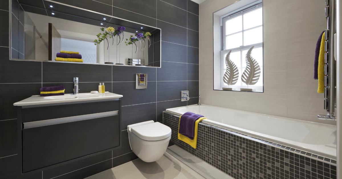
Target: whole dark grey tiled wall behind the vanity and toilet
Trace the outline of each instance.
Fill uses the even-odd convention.
[[[48,3],[48,1],[34,0],[18,1],[41,8],[44,8],[42,2]],[[124,95],[123,129],[127,128],[127,125],[147,120],[162,122],[162,112],[165,109],[198,102],[198,4],[190,0],[60,0],[58,2],[161,28],[161,42],[154,39],[154,45],[162,47],[162,67],[156,69],[10,61],[9,3],[2,0],[0,3],[2,17],[0,19],[1,179],[13,179],[17,174],[17,107],[13,106],[13,103],[39,94],[41,86],[64,84],[66,93],[72,93],[73,77],[79,77],[80,92],[89,92],[97,89],[98,82],[105,82],[106,91]],[[171,10],[177,12],[175,16],[167,13],[169,11],[173,13]],[[159,43],[156,43],[158,41]],[[135,73],[148,74],[147,89],[135,89]],[[190,90],[191,99],[188,102],[181,102],[180,91],[186,89]],[[39,172],[25,178],[85,178],[135,158],[137,157],[129,146],[128,132],[123,130],[121,149],[46,170],[43,171],[43,175]]]

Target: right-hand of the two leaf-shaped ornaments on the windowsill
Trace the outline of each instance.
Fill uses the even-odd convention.
[[[244,73],[241,75],[241,80],[246,83],[246,85],[255,85],[258,82],[261,73],[259,63],[253,59],[251,55],[253,48],[254,46],[251,47],[246,53],[247,66]]]

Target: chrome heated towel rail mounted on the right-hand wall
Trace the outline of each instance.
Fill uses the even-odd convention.
[[[334,58],[334,36],[336,34],[336,0],[325,0],[325,16],[327,29],[325,30],[324,54],[324,109],[327,115],[317,115],[318,119],[336,120],[336,61]]]

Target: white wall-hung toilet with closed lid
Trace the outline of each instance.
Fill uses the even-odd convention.
[[[127,126],[131,149],[142,161],[155,162],[168,148],[171,128],[153,120]]]

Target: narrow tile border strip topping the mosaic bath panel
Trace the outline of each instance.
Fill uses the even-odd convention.
[[[164,111],[164,113],[176,116],[178,118],[181,117],[179,115],[175,115],[175,114],[167,112],[167,111]],[[281,149],[289,150],[289,151],[292,151],[292,152],[297,152],[297,153],[299,153],[301,155],[309,156],[309,157],[312,157],[312,158],[315,158],[315,159],[319,159],[322,162],[329,162],[332,165],[336,165],[336,160],[333,160],[333,159],[330,159],[330,158],[327,158],[327,157],[315,155],[315,154],[312,154],[312,153],[309,153],[309,152],[305,152],[305,151],[301,151],[301,150],[295,149],[295,148],[290,148],[290,147],[285,146],[285,145],[281,145],[281,144],[273,143],[273,142],[270,142],[270,141],[267,141],[267,140],[259,139],[259,138],[252,137],[252,136],[248,136],[248,135],[245,135],[243,133],[239,133],[239,132],[235,132],[235,131],[232,131],[232,130],[224,129],[224,128],[221,128],[221,127],[218,127],[218,126],[214,126],[214,125],[211,125],[211,124],[207,124],[207,123],[204,123],[204,122],[200,122],[200,124],[206,125],[208,127],[213,127],[215,129],[223,130],[223,131],[232,133],[232,134],[237,135],[237,136],[241,136],[241,137],[244,137],[244,138],[255,140],[257,142],[261,142],[261,143],[264,143],[264,144],[272,145],[272,146],[275,146],[275,147],[278,147],[278,148],[281,148]]]

